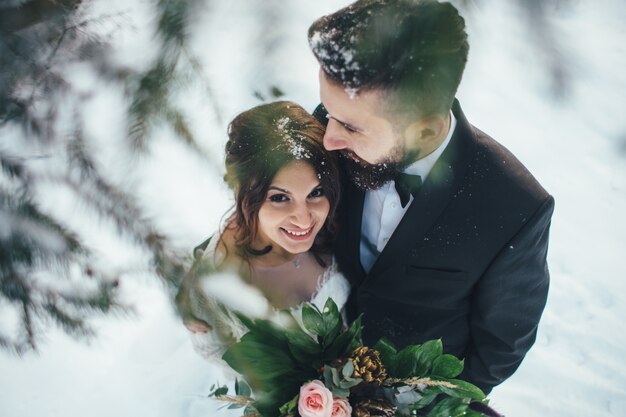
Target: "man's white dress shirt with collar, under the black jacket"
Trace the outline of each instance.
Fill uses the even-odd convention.
[[[426,181],[433,166],[450,143],[450,139],[456,127],[456,119],[450,112],[450,129],[446,139],[434,152],[415,161],[409,165],[404,172],[422,177],[422,182]],[[396,191],[394,181],[385,183],[378,190],[367,191],[365,202],[363,203],[363,221],[361,223],[361,265],[366,272],[369,272],[376,262],[378,255],[383,251],[385,245],[391,238],[394,230],[402,220],[404,213],[413,202],[410,196],[409,203],[402,208],[400,197]]]

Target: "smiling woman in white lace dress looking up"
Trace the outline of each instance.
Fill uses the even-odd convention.
[[[228,128],[226,175],[235,197],[220,231],[196,248],[177,305],[185,326],[202,334],[202,353],[221,357],[245,332],[229,309],[205,291],[210,274],[234,271],[275,309],[333,297],[345,304],[349,284],[330,245],[339,200],[339,170],[324,149],[323,126],[299,105],[281,101],[239,114]],[[196,340],[197,341],[197,340]],[[199,348],[198,346],[196,346]]]

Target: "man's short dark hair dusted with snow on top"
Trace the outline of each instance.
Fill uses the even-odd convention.
[[[450,110],[469,50],[458,10],[434,0],[359,0],[314,22],[309,45],[329,81],[409,117]]]

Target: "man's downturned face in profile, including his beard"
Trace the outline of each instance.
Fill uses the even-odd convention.
[[[320,98],[328,111],[324,147],[339,152],[359,188],[379,188],[412,162],[404,137],[382,111],[381,92],[351,94],[329,81],[322,70],[319,81]]]

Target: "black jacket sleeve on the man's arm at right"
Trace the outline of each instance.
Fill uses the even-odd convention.
[[[549,196],[472,292],[471,343],[461,378],[485,392],[515,372],[535,341],[548,294],[546,255],[553,210]]]

